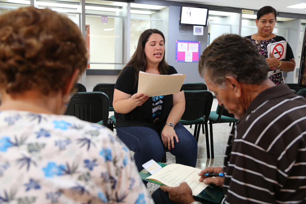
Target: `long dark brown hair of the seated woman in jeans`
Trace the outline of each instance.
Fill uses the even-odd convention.
[[[121,72],[127,67],[127,66],[133,66],[136,70],[135,72],[135,82],[134,82],[134,87],[136,83],[138,82],[138,76],[139,76],[139,71],[145,72],[147,69],[147,58],[146,54],[144,53],[144,47],[149,40],[149,37],[153,33],[158,33],[159,35],[162,36],[162,39],[164,40],[165,43],[165,36],[162,34],[161,31],[157,29],[147,29],[143,33],[141,33],[139,39],[138,39],[138,44],[136,51],[132,55],[130,61],[125,65],[125,67],[121,70]],[[166,52],[166,49],[165,49]],[[167,74],[168,73],[168,63],[165,61],[165,54],[162,58],[162,61],[159,62],[158,64],[158,71],[160,74]],[[121,74],[119,73],[119,75]]]

